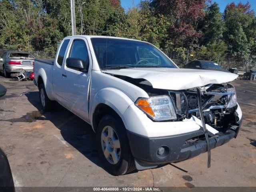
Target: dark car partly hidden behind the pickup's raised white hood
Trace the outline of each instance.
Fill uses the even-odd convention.
[[[204,60],[191,61],[188,64],[186,64],[183,68],[223,71],[223,72],[229,73],[228,70],[225,70],[224,68],[219,66],[217,63],[212,61],[204,61]]]

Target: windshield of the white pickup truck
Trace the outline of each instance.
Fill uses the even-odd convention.
[[[146,42],[115,38],[92,38],[102,70],[137,67],[176,68],[157,48]]]

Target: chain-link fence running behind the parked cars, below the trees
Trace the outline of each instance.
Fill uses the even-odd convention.
[[[54,47],[54,48],[52,48]],[[29,48],[20,48],[18,45],[1,45],[0,56],[6,51],[26,51],[32,53],[36,58],[55,58],[58,44],[36,46],[30,45]],[[54,49],[54,51],[53,51]],[[250,71],[256,69],[256,55],[232,55],[230,53],[218,52],[196,52],[190,50],[162,50],[169,58],[171,58],[180,68],[193,60],[213,61],[225,69],[237,68],[240,71]]]

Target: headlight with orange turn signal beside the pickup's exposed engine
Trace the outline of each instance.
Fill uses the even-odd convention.
[[[140,98],[135,104],[156,121],[176,120],[177,118],[173,102],[169,96]]]

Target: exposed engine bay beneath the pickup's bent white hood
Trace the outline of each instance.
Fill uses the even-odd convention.
[[[183,121],[195,116],[200,118],[196,88],[188,90],[162,90],[153,88],[150,82],[145,79],[134,79],[127,76],[114,75],[117,78],[130,82],[152,96],[170,96],[177,119],[167,121]],[[228,129],[236,129],[238,114],[236,113],[236,92],[234,86],[229,83],[208,84],[201,87],[201,102],[205,124],[219,132],[226,132]],[[231,104],[230,104],[231,103]]]

